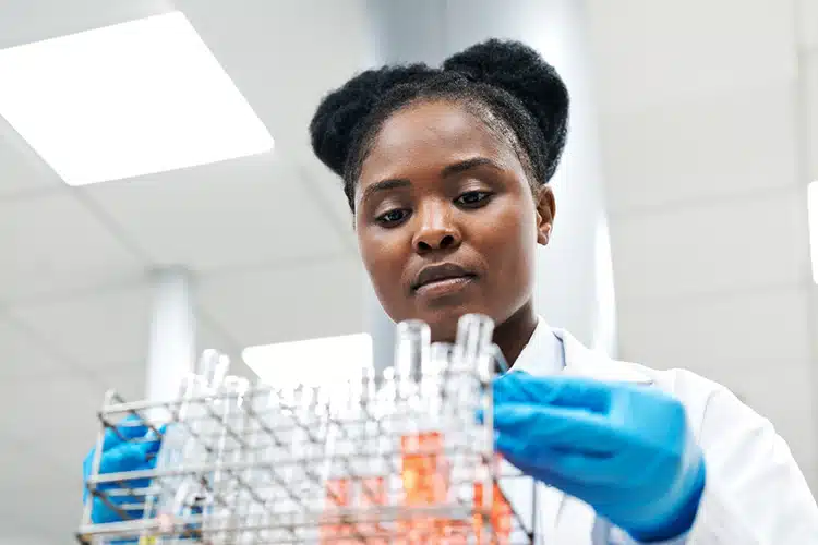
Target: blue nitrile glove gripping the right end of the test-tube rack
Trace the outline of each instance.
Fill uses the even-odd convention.
[[[657,389],[509,373],[494,383],[496,447],[640,542],[687,532],[705,459],[679,401]]]

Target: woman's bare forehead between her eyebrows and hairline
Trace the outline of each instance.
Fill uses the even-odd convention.
[[[375,136],[361,181],[397,178],[407,169],[440,168],[486,157],[512,167],[510,146],[477,116],[452,102],[423,102],[393,113]]]

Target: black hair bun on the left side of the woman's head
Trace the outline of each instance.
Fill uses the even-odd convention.
[[[397,85],[428,76],[425,64],[384,66],[368,70],[327,95],[310,123],[310,140],[315,155],[338,175],[352,143],[356,128],[378,100]]]

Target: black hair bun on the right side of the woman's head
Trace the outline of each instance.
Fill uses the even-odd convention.
[[[565,141],[568,89],[554,66],[534,49],[520,41],[493,38],[453,55],[443,69],[504,89],[533,116],[550,145]],[[553,147],[562,149],[561,145]]]

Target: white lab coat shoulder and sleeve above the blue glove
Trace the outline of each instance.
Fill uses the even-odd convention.
[[[707,461],[707,485],[688,534],[695,545],[818,544],[818,507],[772,424],[724,386],[685,370],[619,362],[557,332],[566,372],[652,385],[685,407]]]

